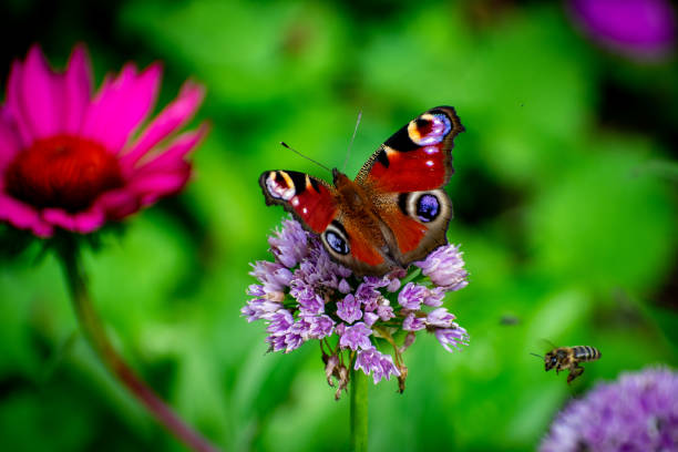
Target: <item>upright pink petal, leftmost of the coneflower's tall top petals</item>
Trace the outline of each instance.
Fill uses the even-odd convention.
[[[19,92],[21,113],[33,137],[42,138],[61,132],[63,92],[61,76],[52,72],[42,51],[33,45],[25,59]]]

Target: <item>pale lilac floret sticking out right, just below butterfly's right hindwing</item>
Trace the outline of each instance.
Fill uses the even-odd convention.
[[[421,273],[431,278],[434,285],[445,290],[459,290],[469,285],[469,274],[464,270],[461,255],[459,246],[445,245],[414,265],[420,267]]]

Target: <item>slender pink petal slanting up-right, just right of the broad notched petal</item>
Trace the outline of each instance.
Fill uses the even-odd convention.
[[[205,89],[192,82],[182,86],[175,101],[170,103],[163,112],[146,127],[142,136],[125,154],[121,163],[132,167],[144,154],[173,131],[188,122],[205,97]]]

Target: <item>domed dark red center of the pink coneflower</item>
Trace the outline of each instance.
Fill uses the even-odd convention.
[[[102,145],[70,135],[38,140],[6,173],[7,192],[35,207],[86,209],[103,192],[122,186],[120,165]]]

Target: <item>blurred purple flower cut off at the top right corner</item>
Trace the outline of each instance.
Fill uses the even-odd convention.
[[[593,40],[633,59],[661,59],[674,48],[676,18],[668,0],[571,0],[569,10]]]

